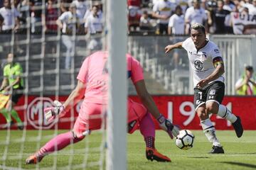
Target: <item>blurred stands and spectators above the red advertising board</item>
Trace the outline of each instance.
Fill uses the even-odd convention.
[[[69,94],[85,57],[105,47],[106,3],[0,0],[1,67],[14,53],[29,94],[56,89]],[[206,27],[209,40],[223,52],[225,67],[233,70],[226,75],[226,94],[235,94],[245,64],[256,65],[256,0],[127,0],[127,21],[127,51],[143,65],[151,94],[192,93],[186,51],[166,57],[164,47],[186,40],[193,23]]]

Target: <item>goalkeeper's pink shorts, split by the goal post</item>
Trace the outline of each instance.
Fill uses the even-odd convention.
[[[139,129],[139,122],[144,118],[146,108],[137,102],[128,102],[128,132],[132,133]],[[86,130],[98,130],[102,127],[102,119],[105,120],[107,105],[98,103],[82,103],[78,119],[75,120],[73,131],[80,138]],[[105,121],[104,121],[105,122]],[[104,123],[103,122],[103,123]]]

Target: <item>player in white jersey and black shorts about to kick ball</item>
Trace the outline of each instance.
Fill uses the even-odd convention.
[[[210,113],[229,120],[238,137],[242,136],[241,120],[221,104],[225,95],[223,57],[218,46],[206,38],[206,30],[200,23],[191,26],[191,37],[183,42],[165,47],[166,53],[183,47],[188,52],[188,60],[193,70],[194,106],[201,120],[203,132],[213,143],[211,154],[223,154],[223,147],[215,135],[210,121]]]

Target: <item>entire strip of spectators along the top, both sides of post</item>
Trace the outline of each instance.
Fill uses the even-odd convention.
[[[129,33],[184,35],[189,33],[191,24],[203,23],[208,33],[236,34],[241,21],[233,18],[245,17],[251,22],[240,24],[247,29],[242,28],[242,33],[255,33],[248,29],[255,29],[256,0],[127,0],[127,11]],[[239,17],[233,13],[239,13]],[[31,33],[56,33],[59,26],[62,33],[70,34],[70,28],[75,26],[73,31],[77,34],[95,34],[104,28],[103,17],[102,1],[0,1],[2,33],[22,33],[26,28]]]

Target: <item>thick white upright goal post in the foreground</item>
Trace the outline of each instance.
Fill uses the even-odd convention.
[[[127,1],[107,1],[110,88],[107,170],[127,169]]]

